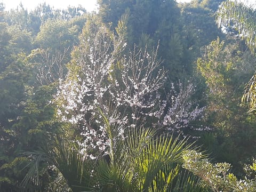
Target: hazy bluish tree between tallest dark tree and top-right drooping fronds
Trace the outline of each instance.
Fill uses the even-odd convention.
[[[217,2],[191,1],[181,7],[184,23],[183,41],[185,41],[190,60],[196,60],[199,57],[201,47],[208,45],[218,36],[223,36],[221,30],[215,25],[215,9],[210,9],[215,3]]]

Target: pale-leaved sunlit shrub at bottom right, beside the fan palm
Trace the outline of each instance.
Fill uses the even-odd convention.
[[[183,155],[185,169],[198,175],[203,179],[206,186],[212,191],[255,191],[255,180],[238,180],[234,174],[230,173],[230,164],[212,164],[209,159],[204,158],[202,153],[194,150],[185,151]],[[253,168],[253,167],[252,167]]]

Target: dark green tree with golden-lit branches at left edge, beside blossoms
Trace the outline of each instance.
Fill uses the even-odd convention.
[[[2,191],[22,189],[20,185],[28,170],[26,164],[29,159],[21,157],[21,152],[47,145],[60,127],[53,118],[54,108],[49,105],[55,86],[33,89],[29,85],[33,78],[29,63],[26,57],[18,59],[7,67],[0,79],[3,90],[0,118]],[[39,167],[42,177],[46,168],[43,165]]]

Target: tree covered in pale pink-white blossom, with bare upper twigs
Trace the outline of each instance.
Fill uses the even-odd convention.
[[[97,158],[96,151],[106,152],[110,138],[115,141],[125,137],[127,127],[149,126],[183,133],[182,129],[204,110],[189,102],[193,84],[179,93],[172,84],[170,93],[162,94],[166,71],[157,59],[158,47],[152,53],[136,47],[127,50],[125,29],[125,22],[119,21],[114,35],[100,23],[87,21],[68,65],[67,79],[60,80],[55,96],[61,121],[82,131],[80,144],[86,157]],[[102,125],[99,109],[115,135]]]

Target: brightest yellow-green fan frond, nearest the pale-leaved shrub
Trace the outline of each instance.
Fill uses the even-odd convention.
[[[178,174],[179,167],[173,164],[181,163],[182,151],[190,147],[186,146],[186,138],[179,140],[173,139],[169,135],[161,135],[156,140],[151,140],[145,151],[140,155],[140,166],[145,172],[142,184],[142,189],[149,188],[156,178],[161,177],[162,173],[169,175],[169,179],[165,180],[165,184],[169,185],[171,180]],[[166,167],[172,166],[172,169],[166,170]],[[167,172],[164,172],[167,171]]]

